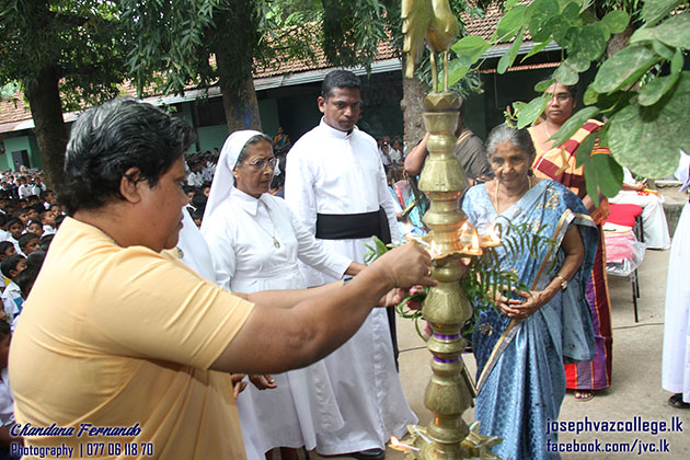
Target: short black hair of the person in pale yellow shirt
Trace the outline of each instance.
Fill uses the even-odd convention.
[[[194,141],[185,120],[151,104],[116,99],[92,107],[72,126],[59,200],[73,215],[122,199],[119,184],[130,168],[139,175],[127,179],[154,186]]]

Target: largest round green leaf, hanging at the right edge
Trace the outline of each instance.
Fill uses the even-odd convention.
[[[690,129],[680,125],[687,123],[689,106],[690,72],[686,71],[653,106],[631,104],[611,116],[611,153],[635,174],[668,176],[678,163],[678,149],[690,149]]]

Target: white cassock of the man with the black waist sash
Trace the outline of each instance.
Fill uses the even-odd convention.
[[[354,129],[342,133],[321,124],[302,136],[287,157],[285,198],[311,234],[317,212],[359,214],[386,209],[391,237],[398,237],[393,200],[376,141]],[[329,251],[363,262],[370,239],[319,240]],[[333,278],[302,267],[310,286]],[[410,409],[393,359],[384,309],[373,309],[359,331],[325,358],[345,426],[319,434],[323,455],[386,448],[391,435],[402,437],[417,422]]]

